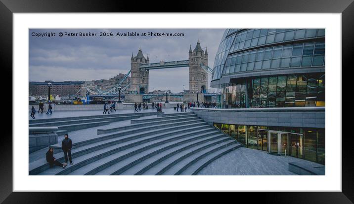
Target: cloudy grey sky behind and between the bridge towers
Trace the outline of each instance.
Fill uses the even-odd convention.
[[[45,36],[47,33],[56,36]],[[97,36],[59,36],[59,33],[96,33]],[[99,36],[100,32],[176,33],[184,36]],[[199,39],[208,48],[209,67],[213,68],[215,54],[223,29],[30,29],[29,80],[67,81],[109,79],[130,70],[130,59],[139,47],[150,63],[187,60]],[[32,36],[44,34],[43,36]],[[208,86],[211,77],[208,76]],[[184,85],[184,87],[183,87]],[[167,90],[177,93],[189,89],[188,68],[150,70],[149,91]],[[210,91],[215,89],[210,88]]]

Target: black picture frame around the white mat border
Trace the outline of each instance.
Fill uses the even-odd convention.
[[[12,20],[13,13],[31,13],[31,12],[299,12],[299,13],[341,13],[342,14],[342,60],[343,67],[351,68],[349,62],[353,58],[354,53],[354,3],[353,0],[194,0],[194,1],[178,1],[167,6],[165,1],[149,1],[145,4],[137,4],[136,1],[99,1],[99,0],[0,0],[0,59],[2,75],[6,76],[8,81],[3,83],[4,96],[13,96],[12,89]],[[167,8],[168,7],[168,8]],[[347,69],[347,70],[348,70]],[[338,68],[338,71],[343,72],[344,69]],[[342,73],[343,74],[343,73]],[[350,75],[350,74],[348,74]],[[345,75],[343,75],[345,76]],[[346,82],[343,78],[343,82]],[[338,82],[338,83],[342,83]],[[350,93],[349,87],[342,84],[342,93]],[[348,88],[347,88],[348,87]],[[347,91],[347,92],[346,92]],[[350,96],[347,96],[350,98]],[[349,102],[350,99],[344,99],[343,102]],[[24,98],[26,99],[26,98]],[[348,101],[346,101],[348,100]],[[6,100],[5,100],[6,101]],[[6,120],[3,120],[2,127],[12,127],[12,109],[8,100],[5,105],[2,105],[3,115]],[[12,102],[12,101],[11,101]],[[343,103],[342,103],[343,104]],[[344,112],[350,116],[349,111]],[[346,122],[346,117],[342,121]],[[10,120],[11,117],[11,120]],[[350,121],[350,120],[349,120]],[[252,201],[262,203],[353,203],[354,201],[354,165],[353,165],[353,143],[350,135],[347,135],[346,130],[350,127],[349,124],[342,125],[342,130],[338,130],[340,138],[342,136],[342,192],[299,192],[299,193],[240,193],[240,194],[203,194],[194,195],[189,201],[200,202],[201,200],[217,199],[218,203],[229,202],[226,199],[231,198],[233,201],[241,198],[252,198]],[[62,193],[13,193],[12,192],[12,129],[2,128],[4,134],[1,134],[0,139],[0,202],[2,203],[62,203],[70,202],[71,198],[78,197],[70,194],[71,198]],[[48,183],[48,185],[55,185]],[[63,189],[65,191],[65,189]],[[167,203],[184,202],[183,197],[176,194],[164,194],[169,199]],[[96,194],[85,195],[80,194],[80,203],[85,200],[90,200],[97,197]],[[120,195],[110,194],[100,196],[103,202],[106,199],[120,198]],[[128,194],[127,198],[133,200],[129,203],[147,202],[146,195],[135,196]],[[160,195],[153,194],[148,196],[155,201],[160,201]],[[163,197],[160,197],[163,198]],[[232,201],[231,200],[231,201]],[[163,201],[163,200],[162,200]]]

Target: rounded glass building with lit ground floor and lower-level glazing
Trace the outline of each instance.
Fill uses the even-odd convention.
[[[221,106],[230,113],[298,111],[288,126],[281,119],[213,121],[223,132],[249,148],[325,164],[325,29],[226,29],[211,87],[222,89]],[[313,111],[322,111],[323,118],[311,121],[319,114]]]

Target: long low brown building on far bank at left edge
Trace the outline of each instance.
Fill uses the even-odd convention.
[[[93,87],[91,81],[44,81],[44,82],[29,82],[29,96],[47,96],[48,83],[51,83],[50,94],[53,96],[68,96],[68,95],[86,95],[84,87]]]

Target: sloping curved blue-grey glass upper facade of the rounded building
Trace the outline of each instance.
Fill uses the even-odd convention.
[[[324,29],[226,29],[212,80],[224,74],[323,67]]]

